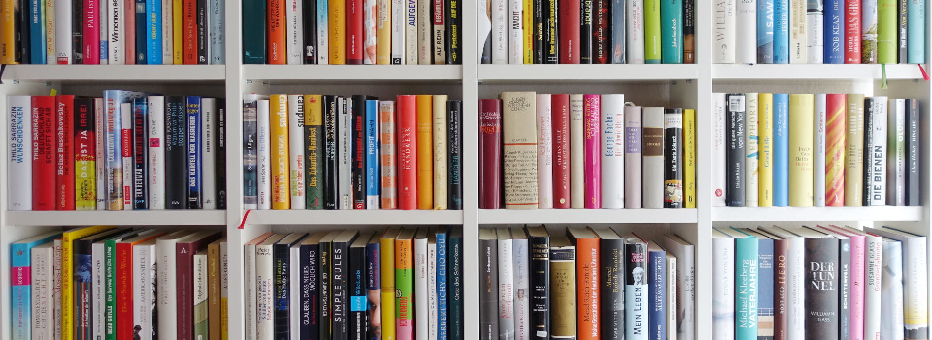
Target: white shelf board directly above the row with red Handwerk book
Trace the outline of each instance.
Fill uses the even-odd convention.
[[[459,80],[462,65],[242,65],[261,80]]]

